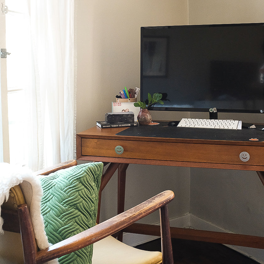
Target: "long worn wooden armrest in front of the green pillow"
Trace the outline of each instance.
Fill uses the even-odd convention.
[[[68,239],[56,243],[47,249],[37,252],[36,263],[44,263],[49,260],[64,256],[88,245],[91,245],[123,228],[135,223],[139,219],[157,211],[167,205],[174,198],[173,191],[164,191],[139,205],[114,216],[92,228],[89,228]]]

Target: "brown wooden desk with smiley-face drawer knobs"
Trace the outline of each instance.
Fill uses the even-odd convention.
[[[220,168],[256,171],[264,185],[264,142],[177,139],[116,135],[126,128],[93,127],[77,134],[77,159],[109,163],[104,172],[100,195],[113,173],[118,170],[118,213],[124,211],[125,177],[129,163],[196,168]],[[124,152],[117,154],[116,146]],[[240,160],[248,152],[247,162]],[[99,204],[100,207],[100,204]],[[99,218],[98,218],[99,219]],[[124,231],[159,235],[159,227],[133,224]],[[264,249],[264,238],[186,228],[171,227],[174,238],[200,240]]]

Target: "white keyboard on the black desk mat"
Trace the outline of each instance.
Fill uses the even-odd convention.
[[[242,121],[229,119],[182,118],[177,127],[242,129]]]

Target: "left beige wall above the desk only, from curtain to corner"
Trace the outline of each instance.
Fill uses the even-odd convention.
[[[187,24],[187,0],[79,0],[77,132],[95,125],[124,86],[140,85],[140,26]]]

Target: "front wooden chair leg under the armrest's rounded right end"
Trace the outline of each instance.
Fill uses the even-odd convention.
[[[160,208],[162,264],[173,264],[168,205]]]

